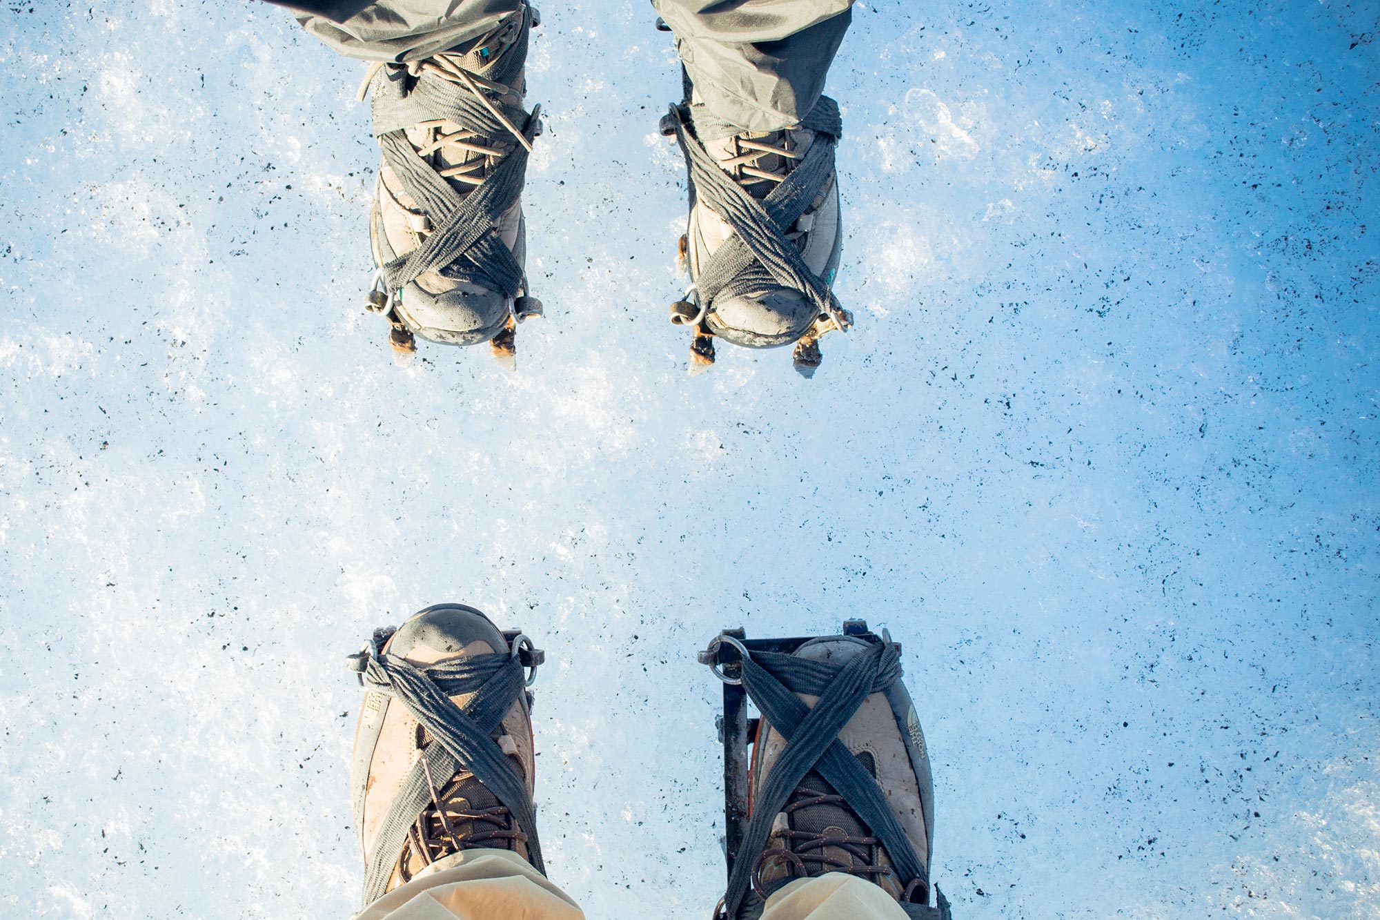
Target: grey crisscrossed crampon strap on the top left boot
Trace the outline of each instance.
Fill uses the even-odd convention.
[[[513,47],[504,51],[486,80],[511,86],[527,61],[531,10],[524,8],[522,32]],[[370,87],[374,134],[403,189],[426,213],[432,231],[411,253],[382,265],[388,290],[399,290],[426,271],[446,278],[471,280],[508,297],[522,293],[523,271],[498,235],[498,218],[522,196],[527,173],[527,149],[466,86],[424,72],[413,80],[403,65],[379,68]],[[480,86],[480,91],[486,91]],[[519,105],[490,99],[530,144],[541,131],[540,106],[527,112]],[[447,119],[480,134],[486,145],[515,145],[482,185],[461,196],[450,182],[407,141],[406,130],[420,122]]]

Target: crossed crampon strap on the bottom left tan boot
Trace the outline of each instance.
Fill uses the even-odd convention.
[[[498,798],[527,834],[527,859],[545,874],[537,821],[518,764],[493,739],[523,693],[523,667],[511,652],[475,655],[439,664],[413,664],[392,653],[370,653],[362,673],[364,687],[385,693],[422,724],[432,740],[403,780],[374,838],[364,869],[364,903],[384,897],[407,841],[407,830],[432,804],[431,776],[448,779],[464,767]],[[473,693],[464,707],[450,698]]]

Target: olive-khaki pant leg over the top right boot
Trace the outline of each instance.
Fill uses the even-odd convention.
[[[851,22],[853,0],[653,0],[705,106],[738,130],[800,122]]]

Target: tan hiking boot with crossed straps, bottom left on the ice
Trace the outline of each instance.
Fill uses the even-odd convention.
[[[378,630],[351,656],[367,688],[351,769],[366,905],[472,848],[511,850],[545,872],[524,689],[524,667],[541,660],[526,635],[460,604]]]

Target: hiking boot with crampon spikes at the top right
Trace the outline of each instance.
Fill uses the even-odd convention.
[[[851,325],[829,290],[843,243],[838,108],[821,98],[795,128],[718,137],[723,130],[694,102],[662,122],[690,162],[680,256],[691,283],[672,322],[696,327],[696,365],[713,362],[709,337],[748,348],[796,344],[796,366],[810,376],[818,337]]]

